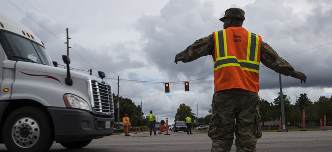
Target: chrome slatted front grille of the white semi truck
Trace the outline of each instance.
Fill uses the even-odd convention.
[[[106,115],[113,113],[111,86],[92,80],[91,87],[94,103],[94,107],[92,108],[95,113]]]

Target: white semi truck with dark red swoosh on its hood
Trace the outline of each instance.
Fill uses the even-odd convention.
[[[102,78],[57,67],[44,43],[0,11],[0,143],[10,152],[68,149],[113,134],[111,86]]]

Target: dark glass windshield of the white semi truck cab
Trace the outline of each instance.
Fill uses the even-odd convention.
[[[45,48],[24,37],[3,31],[0,32],[0,42],[10,60],[53,66]]]

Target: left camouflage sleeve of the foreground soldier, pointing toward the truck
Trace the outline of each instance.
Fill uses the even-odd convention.
[[[214,37],[213,34],[208,37],[195,41],[175,56],[175,62],[182,61],[184,63],[191,62],[202,56],[214,55]]]

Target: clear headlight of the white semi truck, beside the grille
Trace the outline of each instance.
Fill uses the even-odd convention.
[[[91,111],[91,107],[88,102],[78,96],[66,94],[63,98],[69,108],[78,108]]]

